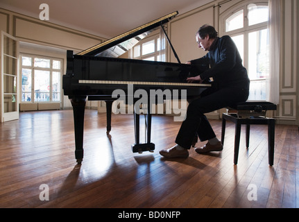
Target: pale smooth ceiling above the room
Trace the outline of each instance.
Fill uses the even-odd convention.
[[[42,3],[49,21],[111,38],[171,12],[180,15],[213,0],[0,0],[0,8],[39,19]]]

